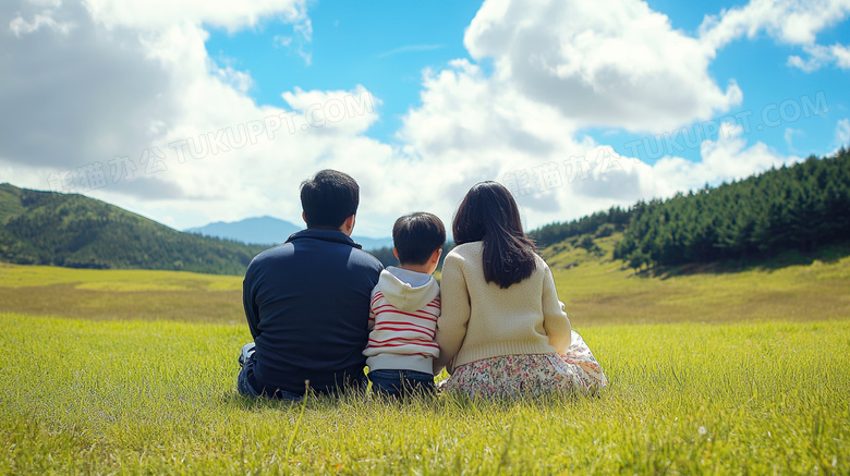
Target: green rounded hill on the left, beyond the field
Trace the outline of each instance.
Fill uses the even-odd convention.
[[[182,233],[77,194],[0,184],[0,260],[241,274],[263,246]]]

